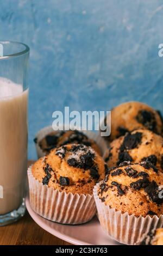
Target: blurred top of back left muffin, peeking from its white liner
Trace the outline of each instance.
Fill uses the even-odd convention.
[[[37,143],[37,138],[35,138],[34,141]],[[46,154],[48,154],[51,149],[59,148],[62,145],[84,144],[92,147],[99,155],[101,155],[101,150],[96,142],[93,141],[93,139],[88,138],[83,132],[77,130],[52,131],[43,137],[38,143],[42,151]]]

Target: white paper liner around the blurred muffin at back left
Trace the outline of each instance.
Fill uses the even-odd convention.
[[[65,129],[66,129],[66,125],[65,125]],[[77,130],[82,131],[88,138],[93,139],[93,141],[96,142],[99,149],[101,150],[101,155],[104,156],[104,153],[107,149],[107,144],[106,144],[105,140],[99,135],[99,133],[96,134],[95,132],[92,132],[92,131],[83,131],[80,129],[77,129]],[[38,158],[46,155],[46,153],[43,152],[42,149],[40,148],[39,142],[46,135],[48,135],[48,133],[50,133],[52,131],[54,131],[52,126],[46,126],[43,129],[41,129],[39,132],[37,132],[37,134],[35,136],[37,138],[37,143],[35,143],[35,147],[36,147],[36,152],[37,152]]]

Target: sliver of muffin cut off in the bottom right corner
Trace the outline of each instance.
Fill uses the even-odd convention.
[[[153,229],[137,245],[163,245],[163,228]]]

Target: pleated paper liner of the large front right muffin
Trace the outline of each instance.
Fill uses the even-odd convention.
[[[122,214],[121,211],[111,209],[99,199],[97,194],[99,185],[100,182],[93,189],[99,222],[105,233],[116,241],[126,245],[134,245],[143,234],[163,226],[163,215],[160,217],[154,215],[152,218],[149,215],[147,217],[135,217],[135,215],[129,215],[127,212]]]

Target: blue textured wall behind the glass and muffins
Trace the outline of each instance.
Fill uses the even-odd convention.
[[[162,109],[162,0],[5,0],[0,37],[30,46],[29,157],[52,112],[108,110],[127,100]]]

